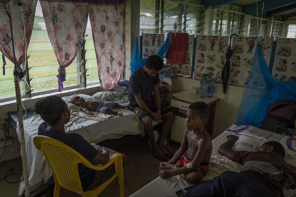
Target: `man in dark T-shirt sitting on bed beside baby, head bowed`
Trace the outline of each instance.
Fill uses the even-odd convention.
[[[158,84],[158,72],[163,68],[163,60],[157,56],[149,56],[145,66],[134,71],[129,79],[129,105],[144,125],[144,133],[151,143],[153,156],[160,161],[167,161],[173,155],[167,151],[164,141],[175,120],[174,113],[161,106]],[[152,120],[165,118],[157,143],[154,140]]]

